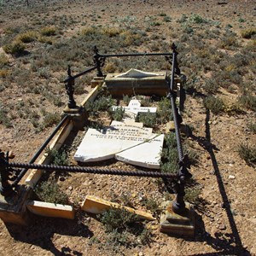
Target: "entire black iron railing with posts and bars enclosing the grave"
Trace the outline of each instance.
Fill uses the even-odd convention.
[[[183,196],[185,195],[184,186],[186,181],[191,177],[191,174],[188,172],[189,160],[188,160],[188,156],[183,154],[183,147],[182,147],[181,137],[180,137],[179,128],[182,122],[182,118],[180,114],[177,112],[177,106],[175,103],[175,99],[177,95],[174,90],[174,83],[175,83],[174,77],[175,77],[175,74],[177,75],[180,74],[180,70],[177,65],[177,48],[175,44],[172,44],[172,53],[131,53],[131,54],[116,54],[116,55],[113,55],[113,54],[101,55],[99,54],[99,51],[96,47],[94,48],[94,53],[95,53],[95,55],[93,56],[94,62],[95,62],[94,67],[90,67],[84,72],[78,73],[76,75],[72,75],[70,66],[68,66],[67,68],[67,79],[65,79],[63,83],[65,84],[65,87],[67,90],[68,108],[77,108],[76,102],[74,101],[74,98],[73,98],[73,92],[74,92],[73,86],[74,86],[75,79],[78,79],[80,76],[83,76],[86,73],[90,73],[95,69],[97,70],[97,76],[103,77],[102,67],[105,63],[106,58],[163,55],[166,57],[166,61],[170,61],[170,63],[172,64],[172,74],[171,74],[171,79],[168,79],[169,94],[167,97],[170,99],[171,105],[172,105],[172,115],[173,115],[173,121],[175,125],[175,135],[177,140],[177,153],[178,153],[178,166],[179,166],[177,170],[177,174],[173,175],[171,173],[163,173],[163,172],[108,170],[108,169],[97,169],[97,168],[81,167],[81,166],[51,166],[51,165],[34,164],[39,154],[43,152],[44,148],[48,145],[49,141],[52,139],[52,137],[55,136],[55,133],[60,130],[61,125],[63,125],[64,122],[69,118],[67,114],[61,120],[60,124],[56,126],[55,130],[52,132],[49,138],[38,149],[38,152],[34,154],[34,156],[32,157],[32,160],[30,160],[29,163],[9,162],[11,155],[9,155],[8,152],[4,154],[0,150],[0,175],[1,175],[0,193],[4,196],[11,195],[14,192],[14,188],[18,185],[21,178],[24,177],[28,169],[40,169],[46,172],[53,172],[53,171],[63,172],[64,171],[64,172],[83,172],[83,173],[93,173],[93,174],[108,174],[108,175],[136,176],[136,177],[155,177],[155,178],[161,177],[161,178],[167,178],[174,184],[173,189],[175,190],[177,196],[175,201],[172,204],[173,212],[181,213],[185,211],[185,203],[183,200]],[[172,56],[172,62],[170,60],[171,56]],[[21,168],[21,170],[15,169],[15,168]],[[13,183],[9,183],[12,181]]]

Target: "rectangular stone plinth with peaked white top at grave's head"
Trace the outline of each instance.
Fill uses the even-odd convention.
[[[113,96],[148,95],[166,96],[168,85],[166,72],[148,73],[131,68],[126,73],[108,73],[105,78],[107,89]]]

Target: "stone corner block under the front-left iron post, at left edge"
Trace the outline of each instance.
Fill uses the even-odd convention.
[[[0,218],[4,223],[25,225],[29,214],[26,210],[26,200],[32,196],[32,189],[20,186],[13,195],[0,195]]]

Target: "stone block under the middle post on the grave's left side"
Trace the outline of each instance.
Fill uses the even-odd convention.
[[[73,125],[75,129],[84,130],[84,125],[88,119],[88,115],[84,108],[77,107],[77,108],[64,108],[62,116],[67,114],[73,121]]]

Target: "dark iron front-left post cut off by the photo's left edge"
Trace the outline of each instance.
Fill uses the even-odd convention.
[[[14,190],[9,183],[9,152],[5,155],[0,149],[0,194],[3,196],[11,195]]]

